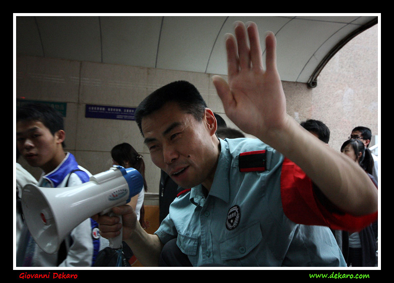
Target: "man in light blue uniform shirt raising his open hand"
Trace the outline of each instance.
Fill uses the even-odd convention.
[[[265,69],[256,25],[237,22],[235,35],[226,39],[229,83],[213,80],[226,115],[258,139],[218,139],[213,112],[186,82],[153,92],[137,108],[137,124],[153,163],[186,189],[154,235],[136,225],[132,210],[114,208],[124,240],[144,266],[157,266],[163,246],[174,242],[192,266],[345,266],[320,225],[371,223],[376,188],[286,114],[274,35],[266,36]],[[102,236],[119,234],[119,218],[95,219]]]

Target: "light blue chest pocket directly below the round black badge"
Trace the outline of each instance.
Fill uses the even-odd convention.
[[[263,239],[260,223],[254,223],[231,238],[219,243],[222,260],[241,258],[249,254]]]

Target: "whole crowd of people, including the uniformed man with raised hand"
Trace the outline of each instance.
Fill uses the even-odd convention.
[[[143,156],[125,142],[111,157],[141,173],[141,193],[113,208],[118,216],[83,221],[56,254],[37,246],[17,206],[17,266],[97,266],[120,228],[128,259],[136,256],[144,266],[375,266],[378,179],[368,149],[371,131],[354,128],[339,152],[328,146],[330,131],[321,121],[300,127],[285,111],[272,33],[265,42],[263,68],[256,25],[237,23],[235,36],[226,39],[229,83],[213,77],[227,117],[241,131],[227,127],[186,81],[160,87],[138,106],[137,125],[161,169],[154,234],[144,229],[149,176]],[[89,180],[91,173],[64,151],[57,111],[27,105],[17,110],[16,122],[19,153],[43,171],[36,181],[17,165],[17,205],[26,182],[65,187]],[[305,144],[307,150],[297,150]],[[94,229],[100,234],[92,237]]]

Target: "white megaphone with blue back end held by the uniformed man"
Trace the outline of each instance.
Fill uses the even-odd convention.
[[[47,188],[26,184],[22,210],[38,246],[46,253],[56,253],[65,237],[82,221],[127,204],[142,187],[143,178],[136,169],[114,166],[76,186]],[[120,248],[122,233],[109,241],[110,247]]]

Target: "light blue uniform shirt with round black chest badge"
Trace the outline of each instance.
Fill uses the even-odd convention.
[[[177,245],[193,266],[346,266],[328,227],[306,226],[283,213],[283,156],[258,139],[221,140],[207,197],[202,185],[177,197],[155,232]],[[264,171],[240,172],[239,154],[266,150]]]

